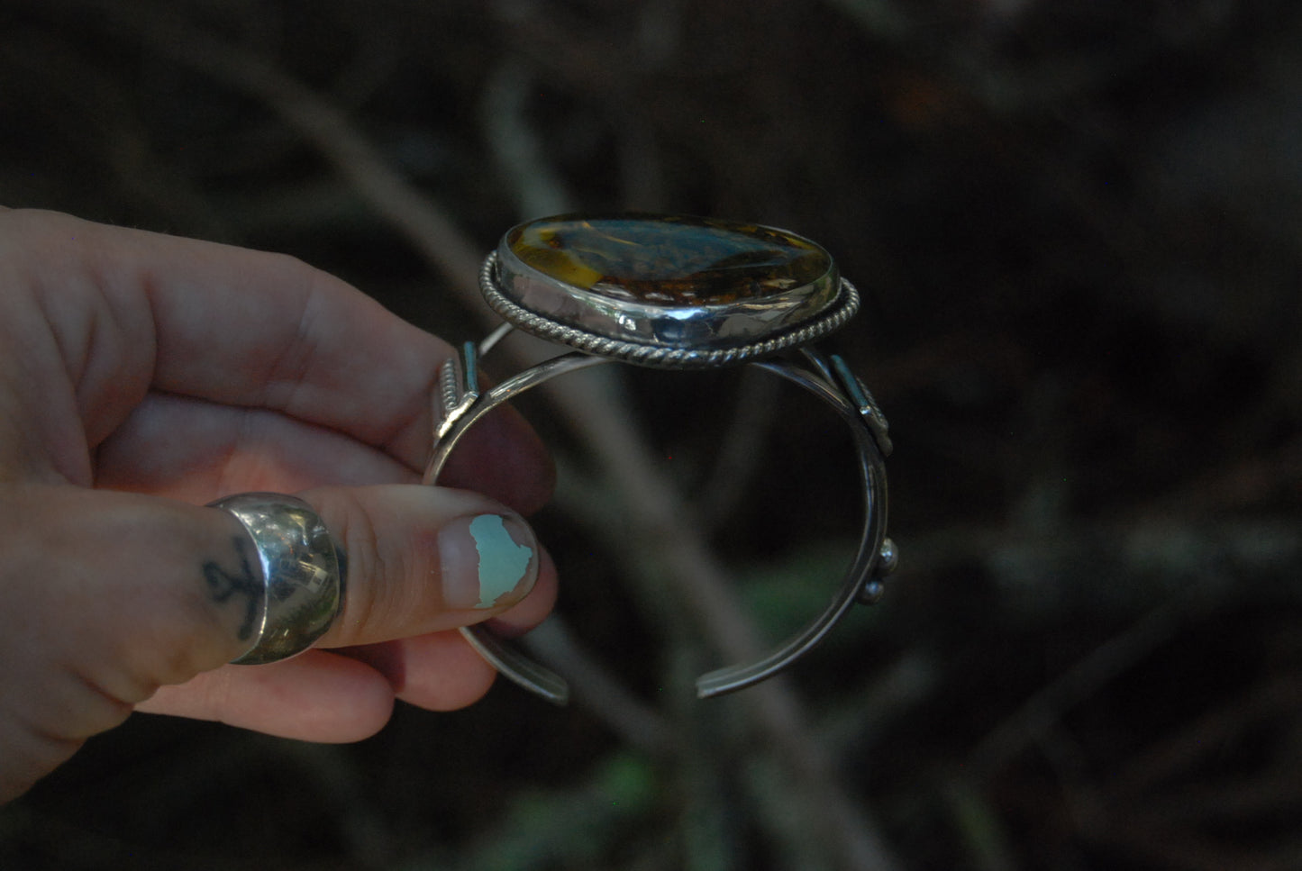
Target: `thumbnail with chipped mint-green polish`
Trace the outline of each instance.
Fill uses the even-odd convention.
[[[538,579],[538,543],[513,514],[478,514],[439,532],[443,598],[449,608],[496,608],[525,598]]]

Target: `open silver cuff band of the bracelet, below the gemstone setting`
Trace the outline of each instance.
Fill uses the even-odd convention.
[[[487,272],[487,271],[486,271]],[[525,391],[553,378],[603,363],[621,362],[587,353],[566,353],[525,370],[486,392],[479,387],[479,358],[486,355],[513,324],[503,324],[478,346],[466,342],[458,357],[440,372],[441,421],[435,432],[434,453],[424,483],[434,484],[461,436],[483,415]],[[697,695],[711,698],[763,681],[812,650],[857,603],[874,603],[883,592],[883,578],[894,570],[897,553],[887,538],[887,477],[883,458],[891,453],[885,418],[871,393],[836,355],[799,348],[803,362],[751,359],[746,365],[772,372],[797,384],[829,405],[850,428],[859,478],[863,486],[863,525],[858,551],[832,601],[811,624],[759,661],[708,672],[697,681]],[[500,673],[519,686],[565,704],[569,685],[552,671],[533,661],[517,648],[488,633],[483,626],[461,630],[474,648]]]

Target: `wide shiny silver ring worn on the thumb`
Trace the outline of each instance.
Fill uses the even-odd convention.
[[[234,516],[253,539],[260,575],[251,644],[232,663],[260,665],[303,652],[326,634],[344,594],[344,561],[311,505],[284,493],[238,493],[211,503]]]

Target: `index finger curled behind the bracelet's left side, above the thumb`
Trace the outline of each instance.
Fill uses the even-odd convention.
[[[65,359],[89,434],[116,428],[135,397],[152,389],[273,410],[379,448],[415,471],[423,466],[435,379],[452,352],[441,339],[290,256],[53,212],[4,217],[25,237],[14,247],[34,283],[57,284],[35,292],[47,298],[60,346],[91,349]],[[48,264],[59,264],[56,275]],[[100,298],[76,298],[82,294]],[[546,452],[523,421],[497,415],[486,424],[447,483],[477,486],[505,457],[513,477],[536,470],[534,486],[519,490],[547,490]],[[487,483],[496,491],[490,495],[509,495],[510,482]]]

